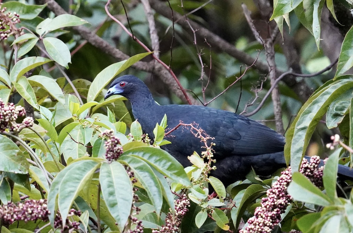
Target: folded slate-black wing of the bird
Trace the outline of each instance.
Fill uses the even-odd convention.
[[[197,123],[216,143],[217,156],[261,155],[283,151],[285,139],[282,135],[257,121],[225,110],[202,106],[169,105],[168,125],[173,127],[179,121]],[[173,110],[170,110],[173,109]],[[185,147],[199,151],[198,138],[186,132],[175,132]],[[177,138],[175,138],[177,139]],[[190,145],[189,145],[190,144]]]

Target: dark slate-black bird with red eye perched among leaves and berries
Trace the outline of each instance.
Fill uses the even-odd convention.
[[[210,175],[219,179],[225,187],[235,181],[244,180],[254,169],[256,174],[269,176],[277,169],[286,167],[284,157],[285,137],[269,127],[222,109],[205,106],[169,104],[155,102],[146,84],[132,75],[116,78],[109,86],[104,99],[121,95],[131,102],[132,114],[140,123],[142,130],[153,135],[156,123],[167,115],[169,129],[179,123],[195,124],[212,139],[212,149],[216,169]],[[191,166],[188,156],[194,151],[201,155],[204,143],[190,130],[178,127],[166,136],[171,144],[162,145],[170,155],[184,167]],[[309,157],[310,159],[310,157]],[[339,172],[353,177],[348,167],[339,167]]]

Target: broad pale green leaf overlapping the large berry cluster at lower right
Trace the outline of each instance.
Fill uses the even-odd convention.
[[[332,203],[330,198],[299,172],[294,172],[292,182],[288,186],[288,193],[295,200],[326,206]]]

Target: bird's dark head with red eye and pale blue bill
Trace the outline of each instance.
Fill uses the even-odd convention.
[[[104,96],[104,100],[112,95],[122,95],[130,101],[134,100],[134,98],[152,98],[151,92],[146,84],[133,75],[124,75],[116,78],[112,84],[110,84],[108,92]]]

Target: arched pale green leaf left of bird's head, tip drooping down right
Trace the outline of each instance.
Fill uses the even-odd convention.
[[[28,82],[31,86],[40,86],[60,103],[65,104],[65,96],[54,79],[42,75],[34,75],[28,78]]]

